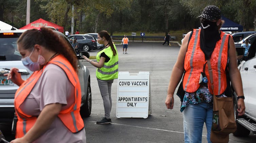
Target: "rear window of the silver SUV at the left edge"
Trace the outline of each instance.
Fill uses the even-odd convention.
[[[21,54],[17,50],[18,38],[0,38],[0,61],[20,61]]]

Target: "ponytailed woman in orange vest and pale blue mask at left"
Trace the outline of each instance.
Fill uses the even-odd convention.
[[[41,27],[22,33],[17,49],[23,65],[34,73],[27,80],[17,68],[4,74],[19,86],[14,100],[16,139],[11,143],[85,143],[77,58],[67,42]]]

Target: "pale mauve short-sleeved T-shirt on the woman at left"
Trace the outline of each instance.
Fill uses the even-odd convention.
[[[32,116],[39,116],[44,106],[51,103],[61,103],[61,110],[65,110],[73,104],[73,94],[74,87],[66,73],[59,66],[49,64],[20,108],[25,114]],[[85,129],[73,134],[57,117],[50,128],[34,142],[85,143]]]

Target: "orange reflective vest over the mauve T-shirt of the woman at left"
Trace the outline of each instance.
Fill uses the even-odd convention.
[[[67,74],[69,81],[74,86],[74,103],[68,109],[60,111],[58,117],[72,133],[77,133],[84,128],[84,122],[79,113],[81,105],[81,88],[77,73],[69,61],[62,55],[57,55],[48,63],[58,65],[62,68]],[[20,105],[30,94],[46,66],[39,71],[35,71],[22,83],[15,93],[14,106],[18,117],[16,138],[23,137],[36,122],[37,117],[25,114],[20,109]]]

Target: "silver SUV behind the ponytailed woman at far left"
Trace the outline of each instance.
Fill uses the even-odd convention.
[[[7,80],[7,77],[4,76],[4,74],[8,73],[8,69],[13,67],[18,68],[19,71],[21,71],[21,77],[24,80],[29,78],[32,74],[32,71],[28,70],[22,64],[21,55],[17,50],[17,40],[24,31],[26,30],[0,30],[0,123],[12,121],[14,115],[14,95],[19,88],[10,79]],[[70,45],[70,48],[72,48],[63,33],[55,30],[54,32],[60,35],[60,38],[63,37],[67,44]],[[88,117],[91,114],[90,72],[78,60],[81,59],[81,55],[89,57],[90,54],[86,51],[80,51],[77,55],[78,77],[82,93],[80,114],[82,117]]]

